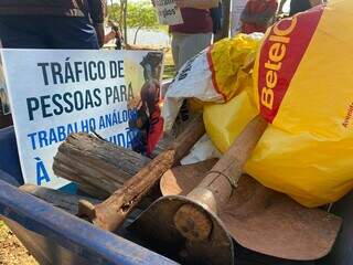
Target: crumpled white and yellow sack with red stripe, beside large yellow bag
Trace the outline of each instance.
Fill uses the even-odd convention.
[[[225,103],[248,82],[263,33],[224,39],[189,60],[168,87],[162,116],[164,130],[172,128],[184,98]],[[195,106],[195,104],[193,104]]]

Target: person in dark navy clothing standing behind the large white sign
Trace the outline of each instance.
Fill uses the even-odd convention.
[[[0,40],[13,49],[99,49],[105,0],[1,0]]]

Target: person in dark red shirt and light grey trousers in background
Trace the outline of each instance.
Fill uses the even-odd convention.
[[[171,25],[172,54],[175,70],[211,44],[213,22],[210,9],[218,7],[218,0],[175,0],[184,23]]]

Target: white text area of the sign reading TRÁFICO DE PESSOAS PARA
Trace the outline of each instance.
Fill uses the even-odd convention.
[[[72,132],[92,130],[131,147],[128,102],[143,84],[148,51],[1,50],[17,141],[26,183],[61,188],[53,157]],[[146,60],[145,60],[146,61]],[[126,70],[126,65],[128,68]],[[131,72],[132,81],[126,75]]]

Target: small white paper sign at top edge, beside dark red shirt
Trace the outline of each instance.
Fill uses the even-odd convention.
[[[175,25],[183,23],[180,8],[175,6],[174,0],[156,0],[154,4],[160,24]]]

